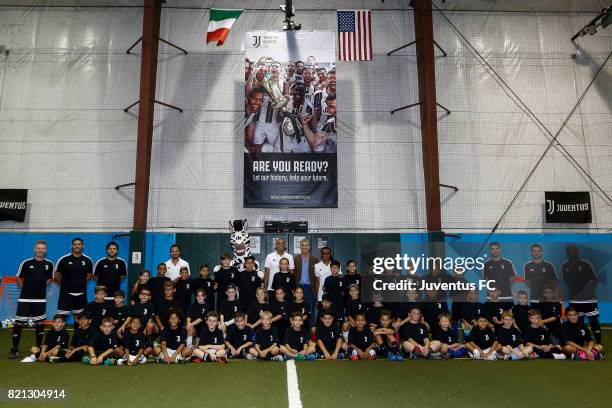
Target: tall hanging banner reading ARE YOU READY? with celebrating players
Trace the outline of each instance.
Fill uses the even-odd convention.
[[[244,207],[338,207],[335,38],[246,34]]]

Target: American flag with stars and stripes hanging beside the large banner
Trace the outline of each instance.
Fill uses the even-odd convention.
[[[372,61],[370,10],[338,10],[340,61]]]

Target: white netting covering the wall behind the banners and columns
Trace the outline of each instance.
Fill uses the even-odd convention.
[[[216,7],[243,2],[216,1]],[[206,47],[205,9],[164,9],[161,37],[189,51],[160,45],[157,99],[183,108],[156,111],[149,226],[223,230],[229,219],[307,220],[327,231],[420,230],[425,227],[414,49],[387,57],[413,40],[404,1],[308,1],[296,4],[303,29],[335,30],[338,8],[374,8],[372,63],[338,63],[339,208],[242,208],[243,38],[279,29],[278,2],[256,1],[223,47]],[[457,4],[450,2],[447,8]],[[198,2],[206,7],[211,2]],[[182,2],[181,6],[196,6]],[[544,7],[544,6],[543,6]],[[387,8],[387,9],[384,9]],[[268,9],[268,10],[264,10]],[[569,38],[591,14],[447,12],[476,49],[554,134],[610,51],[610,31]],[[134,179],[135,115],[122,109],[138,98],[141,32],[137,8],[3,8],[0,44],[0,184],[30,189],[25,224],[9,229],[129,229]],[[440,111],[443,228],[489,230],[545,149],[547,138],[482,68],[448,24],[434,13]],[[438,53],[438,51],[436,51]],[[594,84],[559,140],[607,191],[612,190],[609,124],[612,67]],[[135,108],[134,112],[137,112]],[[589,190],[594,222],[611,226],[612,208],[558,151],[551,151],[508,213],[502,230],[542,230],[543,191]],[[561,228],[564,226],[553,226]]]

